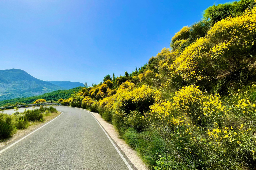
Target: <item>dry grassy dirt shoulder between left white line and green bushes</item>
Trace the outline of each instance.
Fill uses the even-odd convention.
[[[40,127],[41,125],[46,124],[47,122],[49,122],[53,118],[59,116],[60,114],[61,114],[61,112],[58,112],[58,113],[51,113],[50,115],[45,116],[44,117],[45,122],[38,122],[38,121],[30,122],[31,124],[28,128],[18,129],[18,130],[16,130],[16,133],[13,134],[10,138],[0,140],[0,148],[2,148],[5,145],[11,143],[12,141],[24,136],[25,134],[35,130],[36,128]]]

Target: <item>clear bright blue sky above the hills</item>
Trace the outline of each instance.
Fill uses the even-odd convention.
[[[223,0],[1,0],[0,70],[98,83],[147,63]]]

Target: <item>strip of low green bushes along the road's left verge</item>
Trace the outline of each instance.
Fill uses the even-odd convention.
[[[49,108],[41,106],[39,109],[25,110],[24,113],[19,113],[16,108],[12,115],[0,113],[0,140],[11,137],[17,129],[28,128],[35,122],[44,122],[45,117],[52,113],[57,113],[52,106]]]

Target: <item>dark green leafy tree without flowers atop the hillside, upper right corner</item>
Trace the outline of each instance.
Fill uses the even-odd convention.
[[[238,2],[213,5],[204,11],[204,18],[210,19],[212,24],[227,18],[229,16],[240,16],[247,8],[252,8],[255,5],[254,0],[241,0]]]

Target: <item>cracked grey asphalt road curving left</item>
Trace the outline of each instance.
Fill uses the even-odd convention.
[[[56,108],[63,114],[0,153],[1,170],[129,170],[90,113]]]

